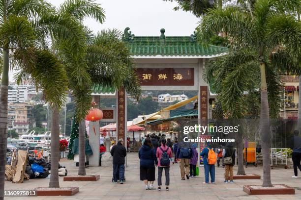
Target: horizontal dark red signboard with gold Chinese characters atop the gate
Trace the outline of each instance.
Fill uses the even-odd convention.
[[[138,68],[142,86],[193,86],[194,68]]]

